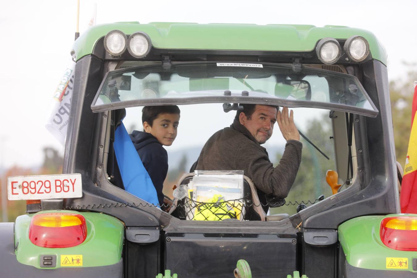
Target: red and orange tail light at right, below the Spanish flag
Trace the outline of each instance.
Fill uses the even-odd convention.
[[[387,217],[379,230],[382,243],[402,251],[417,251],[417,217]]]

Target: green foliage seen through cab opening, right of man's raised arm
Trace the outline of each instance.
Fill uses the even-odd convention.
[[[303,150],[301,154],[301,165],[297,173],[289,195],[285,198],[286,203],[307,203],[309,200],[314,202],[320,195],[326,197],[332,195],[332,189],[326,183],[327,170],[336,170],[334,160],[334,143],[332,133],[332,122],[326,113],[319,119],[312,119],[307,125],[306,132],[303,132],[311,142],[314,143],[322,152],[324,152],[330,160],[325,158],[318,150],[316,150],[306,140],[301,139]],[[278,153],[277,161],[281,159],[282,154]],[[307,206],[311,205],[310,203]],[[288,213],[292,215],[296,213],[297,204],[284,205],[279,208],[271,208],[271,214]]]

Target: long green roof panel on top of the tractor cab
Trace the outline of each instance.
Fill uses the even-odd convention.
[[[372,58],[386,64],[385,49],[369,31],[344,26],[254,25],[138,22],[95,25],[74,43],[76,59],[93,53],[95,43],[111,30],[126,35],[142,31],[154,48],[206,50],[311,51],[322,38],[347,39],[360,35],[368,40]]]

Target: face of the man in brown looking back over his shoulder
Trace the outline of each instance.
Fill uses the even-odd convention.
[[[239,121],[241,125],[249,130],[259,144],[263,144],[272,135],[277,112],[275,107],[257,104],[250,119],[246,118],[244,113],[241,113]]]

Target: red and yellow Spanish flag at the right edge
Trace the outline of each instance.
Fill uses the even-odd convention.
[[[411,133],[401,184],[401,213],[417,213],[417,81],[414,81],[414,97],[411,112]]]

